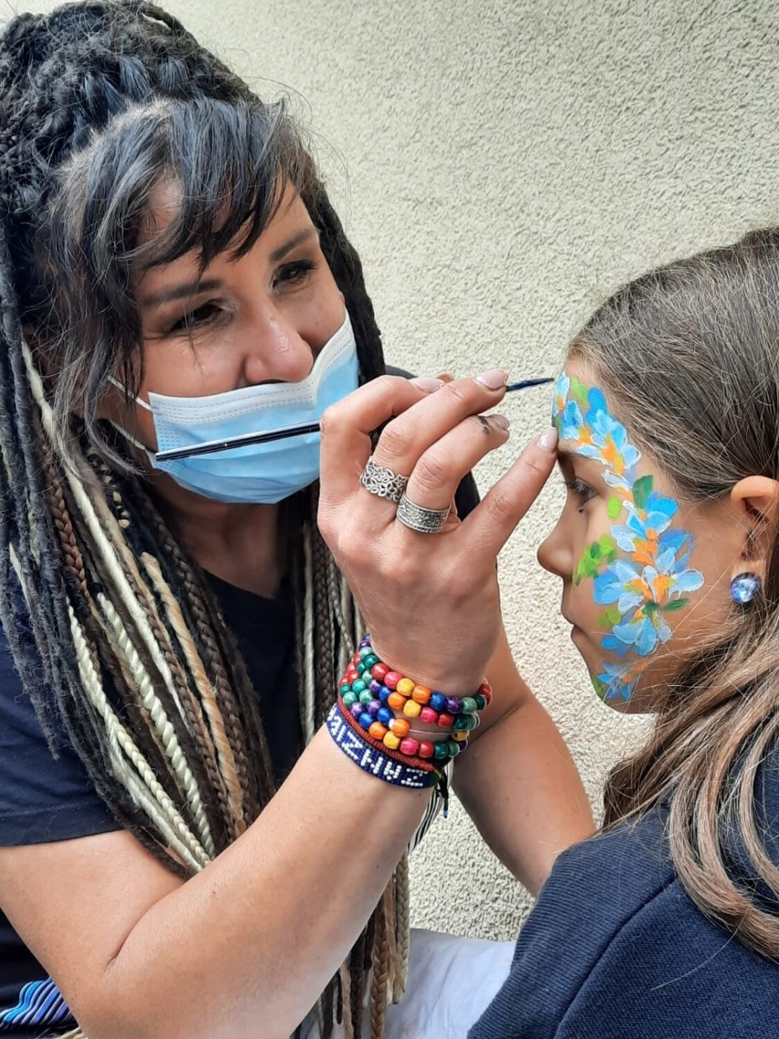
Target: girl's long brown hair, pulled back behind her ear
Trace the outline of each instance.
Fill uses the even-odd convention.
[[[779,479],[779,230],[653,270],[574,339],[637,443],[680,498],[711,502],[751,475]],[[779,740],[779,538],[757,600],[687,660],[648,744],[612,771],[605,826],[668,808],[690,897],[779,959],[779,868],[761,769]]]

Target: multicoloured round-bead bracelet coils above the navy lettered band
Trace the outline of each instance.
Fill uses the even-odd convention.
[[[486,680],[474,696],[446,696],[393,671],[373,651],[370,635],[360,641],[339,692],[357,724],[388,750],[438,764],[467,747],[468,735],[479,725],[477,712],[492,700]],[[451,729],[450,739],[436,743],[414,739],[409,719],[418,718]]]

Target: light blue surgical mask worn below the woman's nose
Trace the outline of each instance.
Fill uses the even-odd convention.
[[[154,417],[157,450],[193,448],[250,433],[319,422],[330,404],[357,389],[358,364],[349,315],[322,347],[301,382],[243,387],[210,397],[150,393],[137,403]],[[273,505],[319,478],[320,434],[304,433],[270,444],[158,461],[177,483],[218,502]]]

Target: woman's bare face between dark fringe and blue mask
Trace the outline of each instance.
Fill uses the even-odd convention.
[[[157,191],[150,234],[176,214],[178,188]],[[198,270],[192,252],[135,286],[150,391],[199,397],[262,382],[298,382],[344,322],[344,297],[300,197],[288,188],[273,220],[240,259],[223,252]],[[137,436],[157,447],[152,415],[135,408]]]

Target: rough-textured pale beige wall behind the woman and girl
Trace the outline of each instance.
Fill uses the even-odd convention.
[[[293,94],[387,357],[419,373],[555,373],[617,284],[779,219],[773,0],[167,5],[263,96]],[[547,400],[507,403],[512,442],[480,469],[483,488],[546,424]],[[597,799],[641,723],[596,701],[559,583],[534,561],[560,501],[555,484],[504,554],[506,620]],[[414,922],[513,937],[522,893],[453,815],[415,857]]]

